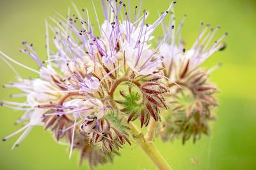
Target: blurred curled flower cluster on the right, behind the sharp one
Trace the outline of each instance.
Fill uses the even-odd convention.
[[[164,76],[172,80],[168,82],[169,90],[172,92],[169,99],[169,103],[172,103],[170,115],[163,121],[159,134],[164,141],[172,137],[181,137],[182,143],[191,137],[195,142],[202,134],[209,134],[208,121],[214,120],[212,110],[218,105],[214,94],[218,89],[208,80],[211,70],[205,71],[200,68],[200,64],[214,52],[223,50],[225,43],[221,41],[227,36],[226,32],[212,42],[220,26],[212,29],[209,24],[204,27],[202,22],[198,38],[185,52],[183,41],[181,38],[178,39],[185,18],[186,15],[175,32],[175,20],[171,13],[172,25],[164,26],[164,38],[170,41],[159,44],[160,55],[164,60]]]

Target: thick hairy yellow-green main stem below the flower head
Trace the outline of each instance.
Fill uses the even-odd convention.
[[[168,165],[166,160],[164,160],[163,156],[159,153],[159,151],[155,148],[152,142],[145,141],[143,134],[140,132],[136,125],[131,125],[132,136],[136,141],[138,141],[138,145],[144,150],[144,152],[148,155],[148,157],[154,162],[154,164],[160,170],[171,170],[171,167]]]

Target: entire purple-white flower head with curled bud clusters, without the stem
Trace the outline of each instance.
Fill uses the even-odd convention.
[[[18,146],[34,126],[42,125],[57,142],[70,145],[70,157],[73,149],[81,150],[81,162],[88,159],[94,167],[111,161],[125,143],[132,144],[135,120],[141,128],[158,122],[158,127],[150,127],[164,141],[181,136],[185,142],[208,134],[207,121],[214,118],[213,95],[218,90],[207,80],[211,70],[205,71],[200,64],[223,50],[221,41],[227,34],[212,43],[219,27],[214,30],[201,24],[195,44],[186,51],[180,38],[184,19],[175,25],[174,4],[148,24],[148,12],[141,6],[134,8],[131,17],[131,8],[124,2],[102,0],[103,24],[96,13],[99,34],[87,10],[79,12],[75,6],[77,13],[68,18],[58,14],[51,18],[54,26],[46,23],[47,60],[41,62],[33,45],[22,43],[20,52],[35,60],[39,71],[1,52],[8,65],[11,61],[39,75],[26,80],[17,73],[19,81],[4,85],[23,92],[12,97],[26,97],[24,103],[1,102],[23,110],[16,123],[26,125],[3,141],[24,131],[13,145]],[[163,25],[163,39],[154,48],[153,34],[159,25]],[[51,41],[48,29],[54,33]]]

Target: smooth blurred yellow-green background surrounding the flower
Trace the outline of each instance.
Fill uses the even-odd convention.
[[[93,0],[74,0],[79,8],[88,8],[94,16]],[[138,3],[132,1],[132,5]],[[150,11],[149,23],[157,18],[157,11],[164,11],[170,1],[143,2]],[[100,1],[95,0],[101,12]],[[13,59],[36,68],[26,55],[19,53],[21,41],[33,42],[36,52],[44,60],[45,18],[55,15],[54,10],[67,14],[71,1],[61,0],[1,0],[0,1],[0,50]],[[173,169],[256,169],[256,1],[254,0],[180,0],[175,5],[177,20],[184,13],[188,18],[184,24],[183,39],[191,45],[198,34],[200,21],[221,25],[221,33],[228,31],[225,38],[227,50],[214,54],[205,62],[212,67],[219,62],[223,67],[214,71],[211,80],[221,90],[218,95],[220,107],[216,110],[217,120],[211,124],[211,136],[204,136],[196,144],[191,141],[182,146],[181,141],[161,143],[156,146],[172,165]],[[100,15],[102,18],[103,15]],[[158,32],[159,33],[159,32]],[[17,70],[28,78],[36,76],[20,67]],[[0,83],[10,83],[15,75],[0,62]],[[9,99],[12,89],[0,89],[0,100]],[[0,110],[0,137],[20,128],[13,122],[22,114],[6,108]],[[88,169],[84,162],[78,166],[78,153],[68,159],[66,146],[58,145],[49,132],[36,127],[28,138],[15,150],[10,150],[18,136],[0,143],[0,169]],[[97,169],[156,169],[139,146],[125,146],[122,157],[115,157],[113,164]]]

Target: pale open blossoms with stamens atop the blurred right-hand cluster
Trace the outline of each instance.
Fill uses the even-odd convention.
[[[227,36],[227,32],[225,32],[223,36],[212,43],[212,39],[214,38],[216,32],[220,29],[220,26],[216,27],[214,30],[213,28],[210,28],[209,24],[207,24],[203,29],[204,23],[202,22],[200,24],[198,38],[193,46],[191,46],[191,48],[185,52],[183,41],[180,38],[177,40],[177,35],[180,34],[180,29],[184,24],[185,18],[186,15],[177,27],[177,32],[175,32],[175,20],[171,17],[172,22],[170,23],[173,25],[164,27],[164,37],[166,39],[170,39],[170,41],[162,41],[159,44],[159,52],[164,60],[163,66],[167,69],[166,75],[170,76],[170,78],[175,81],[177,81],[175,76],[183,76],[183,74],[186,74],[200,66],[200,64],[202,64],[202,62],[204,62],[204,60],[210,57],[214,52],[223,49],[225,43],[221,43],[221,41],[223,38],[225,38],[225,36]],[[171,29],[168,30],[170,27]],[[170,31],[175,32],[175,34],[171,34]]]

